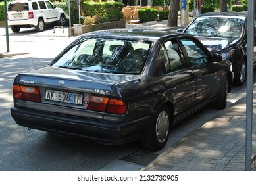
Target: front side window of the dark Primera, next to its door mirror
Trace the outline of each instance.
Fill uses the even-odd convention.
[[[192,39],[180,39],[180,41],[188,53],[190,64],[192,66],[197,66],[199,64],[205,64],[209,62],[205,52]]]

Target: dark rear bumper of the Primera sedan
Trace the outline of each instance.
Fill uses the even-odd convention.
[[[11,116],[20,126],[115,145],[141,139],[153,119],[148,116],[133,122],[116,123],[16,107],[11,108]]]

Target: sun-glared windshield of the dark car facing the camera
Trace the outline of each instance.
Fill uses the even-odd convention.
[[[188,27],[186,33],[194,36],[237,39],[242,34],[243,22],[243,17],[199,17]]]

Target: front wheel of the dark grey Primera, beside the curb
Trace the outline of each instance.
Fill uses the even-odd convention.
[[[228,80],[227,77],[224,76],[222,85],[220,87],[220,93],[215,101],[215,106],[219,109],[224,109],[226,107],[226,100],[228,97]]]

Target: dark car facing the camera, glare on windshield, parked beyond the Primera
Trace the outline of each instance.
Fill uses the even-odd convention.
[[[256,21],[254,23],[256,30]],[[209,12],[199,15],[184,30],[197,37],[212,53],[233,64],[234,85],[243,85],[247,66],[247,13]],[[256,45],[256,42],[255,42]],[[256,51],[256,47],[254,47]],[[256,64],[254,54],[254,66]]]

